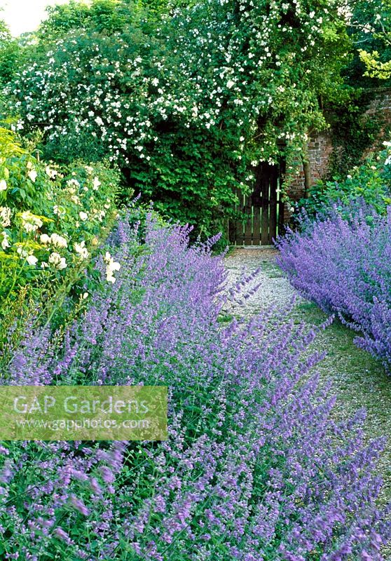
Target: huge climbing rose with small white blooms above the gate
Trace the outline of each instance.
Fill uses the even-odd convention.
[[[51,11],[6,88],[10,109],[43,131],[48,156],[109,154],[158,210],[210,234],[260,161],[300,154],[323,125],[345,22],[336,1],[149,4]]]

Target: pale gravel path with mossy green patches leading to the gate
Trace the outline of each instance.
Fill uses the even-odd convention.
[[[228,280],[233,284],[243,271],[254,273],[256,269],[261,269],[252,281],[253,286],[260,284],[258,290],[244,306],[235,306],[233,313],[249,317],[271,305],[284,307],[296,296],[296,304],[291,311],[295,322],[321,325],[327,318],[326,314],[296,294],[275,264],[276,255],[276,250],[238,248],[226,257]],[[354,338],[354,332],[335,321],[317,335],[312,348],[327,353],[322,363],[317,365],[317,371],[321,381],[332,381],[332,391],[337,396],[334,417],[351,418],[357,410],[364,408],[367,412],[364,425],[366,440],[387,438],[385,452],[378,461],[378,473],[384,481],[380,501],[388,503],[391,502],[391,379],[378,360],[357,349]],[[390,561],[391,547],[383,554],[385,560]]]

